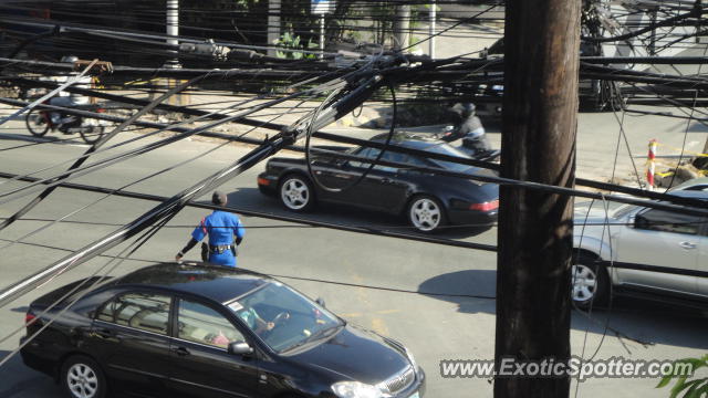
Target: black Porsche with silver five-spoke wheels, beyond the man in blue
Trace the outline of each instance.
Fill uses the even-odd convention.
[[[385,135],[374,142],[384,143]],[[393,144],[469,158],[445,142],[409,134],[396,134]],[[347,154],[375,159],[379,149],[357,147]],[[433,175],[415,167],[444,168],[450,171],[490,175],[483,170],[451,161],[385,151],[382,160],[404,163],[410,168],[377,165],[358,184],[371,163],[342,160],[319,156],[312,163],[315,178],[325,188],[313,184],[304,158],[275,157],[268,160],[266,171],[258,176],[261,192],[275,195],[287,209],[311,210],[315,202],[334,202],[405,216],[419,231],[431,232],[445,224],[489,226],[497,220],[499,186],[469,179]],[[351,187],[351,188],[348,188]],[[342,188],[347,188],[343,189]],[[336,191],[340,189],[340,191]]]

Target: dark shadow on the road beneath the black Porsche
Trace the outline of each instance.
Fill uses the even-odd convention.
[[[317,203],[316,208],[309,212],[295,213],[287,210],[275,197],[262,195],[258,188],[238,188],[236,191],[227,193],[228,207],[235,208],[236,212],[258,211],[278,217],[290,217],[304,221],[327,222],[345,227],[362,228],[368,230],[382,230],[386,232],[407,233],[418,237],[430,237],[423,232],[417,232],[408,226],[403,217],[387,214],[384,212],[362,210],[358,208],[334,205]],[[248,228],[248,226],[247,226]],[[478,235],[489,230],[489,227],[449,227],[433,234],[442,239],[464,239]]]

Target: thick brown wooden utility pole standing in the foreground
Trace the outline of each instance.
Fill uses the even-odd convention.
[[[574,186],[581,0],[508,0],[501,175]],[[496,359],[570,358],[573,199],[501,187]],[[570,378],[497,377],[494,397],[568,397]]]

